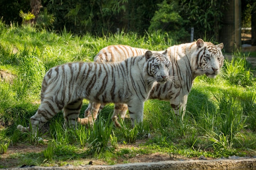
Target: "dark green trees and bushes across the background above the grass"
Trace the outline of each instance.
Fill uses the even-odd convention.
[[[36,18],[39,29],[57,32],[66,29],[75,34],[99,36],[121,30],[139,35],[145,35],[145,31],[161,30],[173,40],[182,42],[190,40],[191,27],[194,27],[195,39],[207,33],[218,41],[223,11],[229,5],[227,0],[43,0],[41,3],[43,7]],[[27,4],[28,0],[19,3],[2,0],[0,14],[4,16],[3,20],[7,24],[20,24],[22,18],[31,19]],[[21,14],[22,18],[18,13],[20,9],[26,11]]]

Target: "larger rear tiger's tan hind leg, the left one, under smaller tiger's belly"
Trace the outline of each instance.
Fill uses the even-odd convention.
[[[90,110],[90,114],[88,115],[88,117],[85,118],[78,118],[78,122],[82,125],[88,125],[90,124],[90,126],[93,126],[94,121],[97,119],[100,110],[104,107],[104,104],[100,104],[100,103],[92,103],[92,107]]]

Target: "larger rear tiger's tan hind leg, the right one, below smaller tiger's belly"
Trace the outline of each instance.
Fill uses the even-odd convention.
[[[121,125],[118,123],[119,117],[124,120],[126,112],[128,110],[127,104],[115,104],[115,110],[112,115],[112,121],[115,124],[115,127],[120,128]]]

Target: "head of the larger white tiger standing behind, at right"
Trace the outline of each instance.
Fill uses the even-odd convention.
[[[196,41],[196,49],[191,57],[191,68],[196,75],[205,74],[209,78],[215,78],[223,66],[224,57],[221,50],[223,43],[214,45],[204,42],[202,39]]]

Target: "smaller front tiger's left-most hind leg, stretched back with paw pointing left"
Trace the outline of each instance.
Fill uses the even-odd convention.
[[[37,130],[40,129],[49,119],[54,117],[58,112],[62,110],[61,104],[56,104],[52,99],[42,100],[36,114],[30,118],[30,126],[23,127],[18,125],[17,129],[21,132],[30,131],[34,137],[37,136]]]

